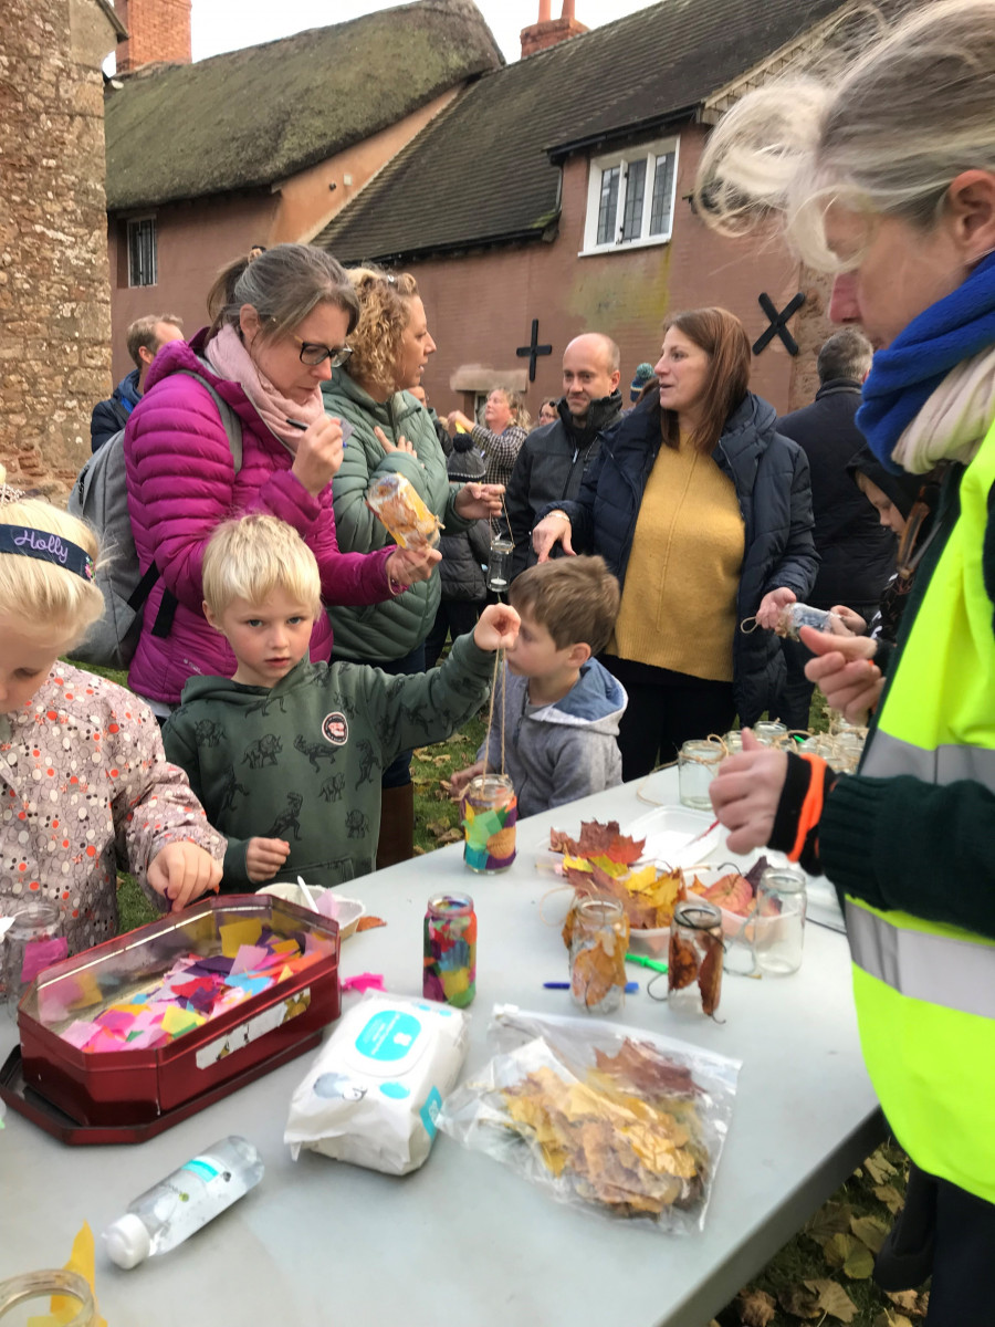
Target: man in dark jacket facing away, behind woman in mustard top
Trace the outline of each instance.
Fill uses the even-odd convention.
[[[846,604],[865,621],[877,612],[896,555],[894,535],[878,524],[874,508],[846,472],[854,451],[864,446],[853,417],[873,353],[870,341],[856,328],[830,336],[819,352],[821,386],[816,399],[777,421],[777,433],[799,443],[812,470],[821,563],[809,602],[815,608]],[[791,729],[807,729],[813,686],[804,667],[812,656],[797,641],[784,641],[783,649],[788,675],[771,714]]]

